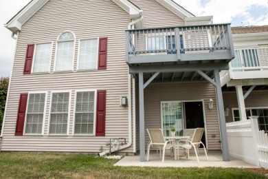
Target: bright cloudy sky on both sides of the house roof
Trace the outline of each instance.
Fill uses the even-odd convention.
[[[146,1],[146,0],[144,0]],[[214,17],[214,23],[268,25],[267,0],[174,0],[195,16]],[[30,0],[0,0],[0,77],[10,76],[14,59],[15,40],[3,27]]]

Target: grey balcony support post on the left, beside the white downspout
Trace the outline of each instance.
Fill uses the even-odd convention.
[[[139,72],[139,161],[145,161],[144,74]]]

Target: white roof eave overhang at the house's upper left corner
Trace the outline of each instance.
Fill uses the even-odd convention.
[[[38,10],[40,10],[49,0],[33,0],[27,4],[18,14],[16,14],[7,24],[8,28],[13,33],[21,30],[21,27],[26,23]]]

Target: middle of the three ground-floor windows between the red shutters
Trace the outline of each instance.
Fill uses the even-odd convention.
[[[68,135],[70,107],[71,92],[52,92],[48,134]]]

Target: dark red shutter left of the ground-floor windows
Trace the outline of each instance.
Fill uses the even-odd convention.
[[[18,109],[18,116],[16,117],[15,136],[23,136],[27,98],[28,98],[28,94],[21,94],[19,98],[19,109]]]

